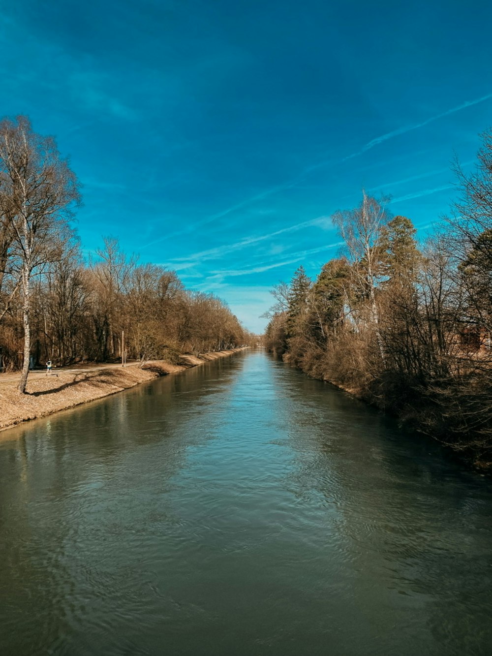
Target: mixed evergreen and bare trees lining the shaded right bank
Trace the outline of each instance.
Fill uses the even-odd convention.
[[[343,253],[272,291],[266,344],[306,373],[492,466],[492,131],[419,243],[388,199],[337,211]]]

